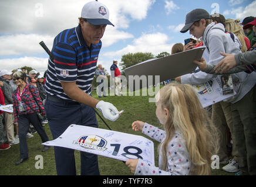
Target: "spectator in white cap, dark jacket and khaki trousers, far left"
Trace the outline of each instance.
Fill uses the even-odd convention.
[[[4,79],[4,85],[2,86],[2,92],[4,93],[5,105],[12,104],[12,87],[9,84],[11,80],[12,72],[7,70],[0,71],[0,77]],[[18,144],[19,138],[14,136],[14,114],[4,112],[6,136],[9,144]]]

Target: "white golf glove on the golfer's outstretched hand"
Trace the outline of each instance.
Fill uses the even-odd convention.
[[[106,119],[112,122],[117,120],[120,116],[116,107],[109,102],[99,101],[96,105],[96,109],[98,109]]]

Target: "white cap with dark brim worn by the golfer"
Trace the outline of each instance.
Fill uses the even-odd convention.
[[[113,25],[109,21],[109,9],[97,0],[83,6],[81,17],[92,25]]]

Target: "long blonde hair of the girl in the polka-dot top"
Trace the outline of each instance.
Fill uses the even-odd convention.
[[[170,116],[164,124],[166,138],[160,144],[162,147],[163,165],[167,168],[167,147],[176,130],[180,131],[186,140],[191,164],[192,175],[211,174],[211,156],[215,153],[213,126],[206,110],[202,107],[196,92],[191,85],[169,84],[159,91],[157,101],[161,108],[167,108]],[[160,151],[160,150],[159,150]]]

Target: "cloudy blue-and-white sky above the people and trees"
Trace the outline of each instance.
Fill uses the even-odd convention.
[[[45,41],[49,49],[62,30],[76,27],[82,7],[91,0],[1,0],[0,1],[0,69],[47,69],[48,55],[39,46]],[[109,71],[113,60],[123,54],[170,53],[175,43],[184,43],[189,32],[180,33],[186,14],[203,8],[221,13],[226,19],[256,16],[256,0],[99,0],[107,6],[113,26],[107,26],[102,38],[98,64]]]

